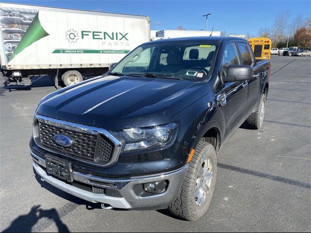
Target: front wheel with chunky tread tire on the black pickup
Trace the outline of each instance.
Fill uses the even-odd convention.
[[[189,163],[181,190],[177,198],[168,207],[169,211],[173,215],[188,221],[196,221],[203,216],[212,199],[216,173],[217,158],[215,148],[210,143],[200,141]],[[210,176],[210,178],[200,180],[202,182],[199,182],[200,185],[198,185],[197,182],[202,174],[205,174],[206,177]],[[207,192],[204,191],[204,188],[202,190],[199,188],[203,186],[206,190],[208,186]],[[202,191],[202,193],[199,193],[203,197],[201,205],[198,205],[200,201],[198,196],[195,196],[195,190]]]

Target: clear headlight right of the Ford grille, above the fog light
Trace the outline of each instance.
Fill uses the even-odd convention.
[[[177,130],[177,124],[171,122],[167,125],[141,129],[126,129],[114,132],[125,141],[124,151],[140,150],[170,143]]]

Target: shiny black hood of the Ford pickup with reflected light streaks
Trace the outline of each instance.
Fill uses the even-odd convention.
[[[169,123],[209,90],[208,83],[145,77],[99,77],[41,100],[37,114],[107,130]]]

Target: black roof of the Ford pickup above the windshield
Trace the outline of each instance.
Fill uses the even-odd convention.
[[[171,38],[171,39],[156,40],[156,41],[147,42],[146,44],[149,44],[149,43],[165,43],[165,42],[169,42],[169,41],[175,41],[175,42],[181,42],[181,41],[225,42],[225,41],[232,40],[232,39],[234,39],[234,40],[241,39],[241,40],[247,41],[243,38],[232,37],[232,36],[193,36],[193,37],[178,37],[178,38]]]

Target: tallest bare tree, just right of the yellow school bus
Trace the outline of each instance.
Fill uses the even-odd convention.
[[[291,17],[290,11],[279,11],[276,14],[276,19],[272,27],[273,38],[272,40],[277,43],[286,38],[285,29],[288,24],[288,20]]]

